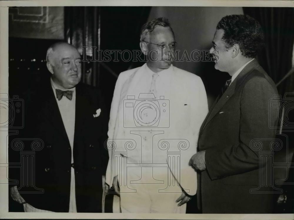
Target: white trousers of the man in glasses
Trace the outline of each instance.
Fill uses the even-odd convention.
[[[186,204],[176,203],[182,190],[167,167],[128,167],[124,173],[118,177],[122,213],[186,213]]]

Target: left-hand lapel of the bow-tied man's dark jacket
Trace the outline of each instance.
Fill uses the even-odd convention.
[[[44,89],[45,90],[45,89]],[[65,127],[61,118],[61,114],[59,111],[59,107],[57,104],[57,100],[55,94],[53,92],[51,82],[46,85],[46,90],[43,94],[44,97],[44,117],[48,118],[48,121],[53,125],[53,127],[59,131],[58,133],[67,140],[69,144],[69,138],[67,137]]]

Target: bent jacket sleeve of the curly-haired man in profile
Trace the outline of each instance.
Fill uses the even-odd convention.
[[[259,150],[250,143],[259,139],[262,150],[269,150],[265,139],[275,138],[275,129],[270,128],[269,119],[277,121],[279,111],[278,108],[269,111],[269,101],[275,94],[273,86],[263,77],[253,77],[245,84],[240,99],[240,128],[236,128],[240,129],[239,143],[206,150],[206,168],[212,180],[259,167]]]

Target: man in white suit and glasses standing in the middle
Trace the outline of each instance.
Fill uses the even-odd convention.
[[[174,67],[175,36],[166,18],[143,25],[148,61],[122,72],[108,126],[106,183],[120,193],[124,213],[185,213],[196,194],[189,165],[208,112],[200,77]]]

